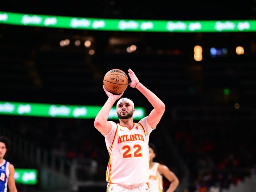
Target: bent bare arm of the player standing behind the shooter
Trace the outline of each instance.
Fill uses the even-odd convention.
[[[164,175],[166,179],[168,179],[171,184],[170,187],[166,190],[166,192],[173,192],[179,185],[179,179],[176,177],[176,175],[169,170],[168,167],[166,167],[163,164],[160,164],[158,167],[158,171],[161,175]]]

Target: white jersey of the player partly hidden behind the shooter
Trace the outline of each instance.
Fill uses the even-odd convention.
[[[154,163],[150,168],[149,179],[147,181],[150,192],[163,191],[163,176],[158,172],[159,163]]]

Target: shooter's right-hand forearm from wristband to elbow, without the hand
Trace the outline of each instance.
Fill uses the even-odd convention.
[[[137,84],[136,88],[148,99],[150,104],[155,108],[157,112],[164,112],[165,105],[152,91],[150,91],[143,84]]]

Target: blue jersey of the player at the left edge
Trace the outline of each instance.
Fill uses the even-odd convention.
[[[7,182],[9,177],[9,162],[3,161],[3,163],[0,164],[0,192],[7,192]]]

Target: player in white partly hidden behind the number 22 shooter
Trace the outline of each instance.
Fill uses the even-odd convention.
[[[150,192],[163,191],[163,175],[166,179],[168,179],[171,182],[170,187],[167,189],[166,192],[173,192],[179,185],[178,178],[165,165],[153,162],[153,159],[156,157],[156,148],[153,144],[149,143],[148,149],[150,156],[150,175],[147,184],[150,189]]]

